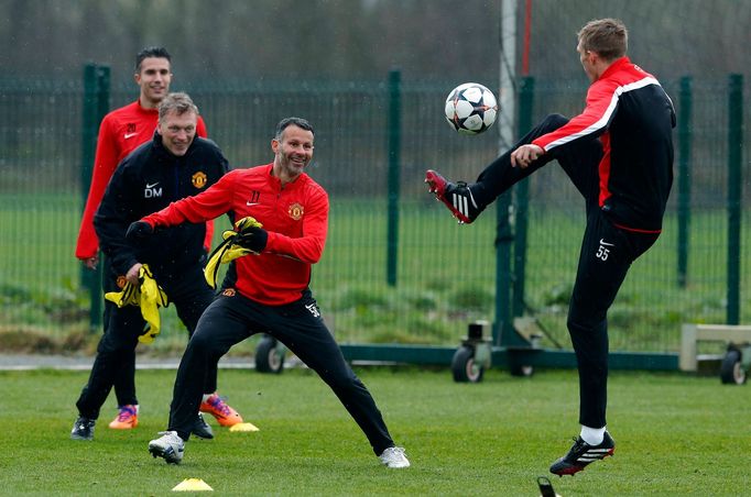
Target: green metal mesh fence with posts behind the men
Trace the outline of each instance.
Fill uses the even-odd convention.
[[[91,299],[87,287],[98,276],[81,273],[73,255],[85,168],[96,115],[134,99],[135,88],[110,87],[106,68],[86,71],[85,81],[0,80],[0,332],[65,336],[98,328],[100,297]],[[526,313],[547,331],[545,345],[567,347],[584,206],[562,170],[552,164],[509,195],[524,216],[500,232],[502,201],[503,216],[489,210],[459,227],[426,194],[426,168],[474,179],[498,152],[494,129],[464,137],[443,121],[446,93],[458,82],[394,73],[382,81],[191,81],[173,89],[192,95],[233,167],[270,162],[273,126],[284,117],[316,128],[311,174],[329,191],[331,217],[313,289],[340,342],[455,345],[472,320],[508,324]],[[751,225],[742,202],[751,190],[742,147],[748,79],[664,84],[679,117],[676,184],[664,234],[634,264],[609,314],[614,351],[675,352],[682,322],[751,321]],[[529,98],[520,102],[524,128],[551,111],[578,112],[586,91],[581,79],[520,85]],[[508,242],[498,245],[504,252],[497,239]]]

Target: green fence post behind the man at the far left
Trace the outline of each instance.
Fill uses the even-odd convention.
[[[97,148],[97,133],[101,119],[109,111],[110,70],[107,66],[87,64],[84,66],[84,111],[80,185],[83,206],[86,206],[91,172]],[[96,270],[81,267],[81,286],[88,289],[91,301],[89,327],[96,330],[101,325],[101,264]]]

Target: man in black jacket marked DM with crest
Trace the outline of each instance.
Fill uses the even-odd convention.
[[[205,255],[204,223],[186,223],[163,230],[148,244],[133,246],[126,241],[131,222],[163,209],[170,202],[194,196],[214,185],[229,166],[219,147],[196,136],[198,109],[185,93],[170,93],[159,106],[159,123],[153,140],[128,155],[115,172],[94,218],[94,225],[105,252],[105,279],[108,291],[122,290],[127,283],[139,285],[139,273],[148,264],[156,283],[177,309],[177,316],[193,334],[198,318],[214,299],[214,292],[202,273]],[[88,384],[76,407],[78,419],[70,438],[92,440],[99,409],[109,395],[116,376],[128,354],[132,354],[144,319],[135,306],[113,308],[107,331],[99,341],[97,357]],[[205,378],[205,404],[210,404],[217,383],[217,365]],[[213,395],[211,395],[213,394]],[[229,406],[220,424],[241,422]],[[202,406],[202,410],[204,410]],[[222,415],[219,412],[218,415]],[[210,427],[200,415],[193,433],[213,438]]]

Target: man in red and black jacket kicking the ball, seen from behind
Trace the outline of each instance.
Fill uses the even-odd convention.
[[[554,159],[585,199],[587,228],[567,323],[579,369],[581,432],[551,466],[557,475],[577,473],[616,449],[605,416],[607,313],[631,263],[657,240],[673,184],[673,103],[654,76],[629,60],[627,47],[622,22],[587,23],[576,48],[591,81],[584,112],[570,120],[548,115],[471,185],[435,170],[425,177],[464,223]]]

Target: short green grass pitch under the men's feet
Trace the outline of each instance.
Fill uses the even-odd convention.
[[[215,427],[192,440],[178,466],[152,459],[165,428],[174,371],[139,371],[141,424],[68,438],[86,372],[4,372],[0,426],[2,495],[173,495],[202,478],[217,495],[535,496],[536,477],[570,446],[577,426],[574,371],[515,378],[490,369],[455,384],[447,369],[356,368],[412,462],[380,466],[345,409],[315,374],[222,369],[220,390],[257,433]],[[681,374],[611,375],[616,455],[552,482],[563,496],[740,495],[748,492],[749,387]],[[549,475],[552,476],[552,475]]]

